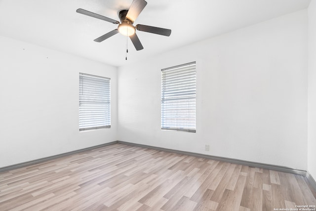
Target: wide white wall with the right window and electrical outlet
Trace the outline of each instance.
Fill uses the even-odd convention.
[[[118,68],[118,140],[306,170],[307,19],[301,10]],[[197,132],[161,131],[160,70],[192,61]]]

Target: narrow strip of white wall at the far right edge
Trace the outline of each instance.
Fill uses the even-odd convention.
[[[316,179],[316,0],[308,8],[308,171]]]

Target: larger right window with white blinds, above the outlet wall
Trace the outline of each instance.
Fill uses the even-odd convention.
[[[161,129],[196,132],[196,62],[161,70]]]

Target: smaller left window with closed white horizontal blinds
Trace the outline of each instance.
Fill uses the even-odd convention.
[[[110,79],[79,73],[79,130],[111,127]]]

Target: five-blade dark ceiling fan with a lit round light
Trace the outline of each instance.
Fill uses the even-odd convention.
[[[170,29],[163,29],[163,28],[158,28],[154,26],[147,26],[147,25],[141,25],[137,24],[136,26],[133,26],[134,21],[138,17],[138,15],[141,13],[141,11],[145,8],[147,2],[145,0],[133,0],[130,8],[120,10],[118,12],[118,17],[120,20],[120,23],[117,20],[113,20],[111,18],[89,12],[84,9],[77,9],[77,12],[83,15],[88,15],[94,18],[98,18],[104,21],[108,21],[113,24],[118,24],[118,28],[105,34],[102,35],[101,37],[95,39],[95,42],[102,42],[118,33],[121,33],[122,35],[128,36],[130,40],[133,42],[133,45],[135,46],[136,50],[141,50],[144,49],[142,43],[139,41],[137,35],[136,35],[136,30],[142,31],[142,32],[149,32],[153,34],[158,34],[158,35],[163,35],[169,37],[171,34]]]

